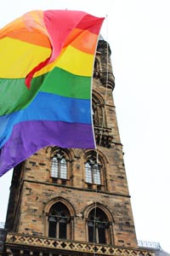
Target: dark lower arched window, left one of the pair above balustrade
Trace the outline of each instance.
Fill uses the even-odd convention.
[[[71,214],[62,202],[55,203],[48,212],[48,236],[71,239]]]

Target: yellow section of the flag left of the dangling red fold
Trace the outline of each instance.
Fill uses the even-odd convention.
[[[51,50],[14,38],[0,40],[0,78],[25,78],[34,67],[46,60]]]

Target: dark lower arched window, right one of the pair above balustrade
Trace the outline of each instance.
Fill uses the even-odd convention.
[[[88,241],[108,243],[110,236],[108,218],[99,207],[95,207],[88,214]]]

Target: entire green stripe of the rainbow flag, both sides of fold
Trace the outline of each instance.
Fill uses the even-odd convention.
[[[38,90],[59,96],[90,99],[90,85],[91,78],[77,76],[58,67],[33,78],[30,90],[26,87],[25,79],[0,79],[0,116],[26,108]]]

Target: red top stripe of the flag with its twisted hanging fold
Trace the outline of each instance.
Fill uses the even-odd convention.
[[[97,18],[81,11],[47,10],[43,12],[43,21],[47,28],[48,38],[51,43],[51,55],[42,61],[26,76],[26,86],[30,88],[31,79],[38,70],[53,62],[60,54],[72,30],[77,27],[99,34],[104,18]]]

